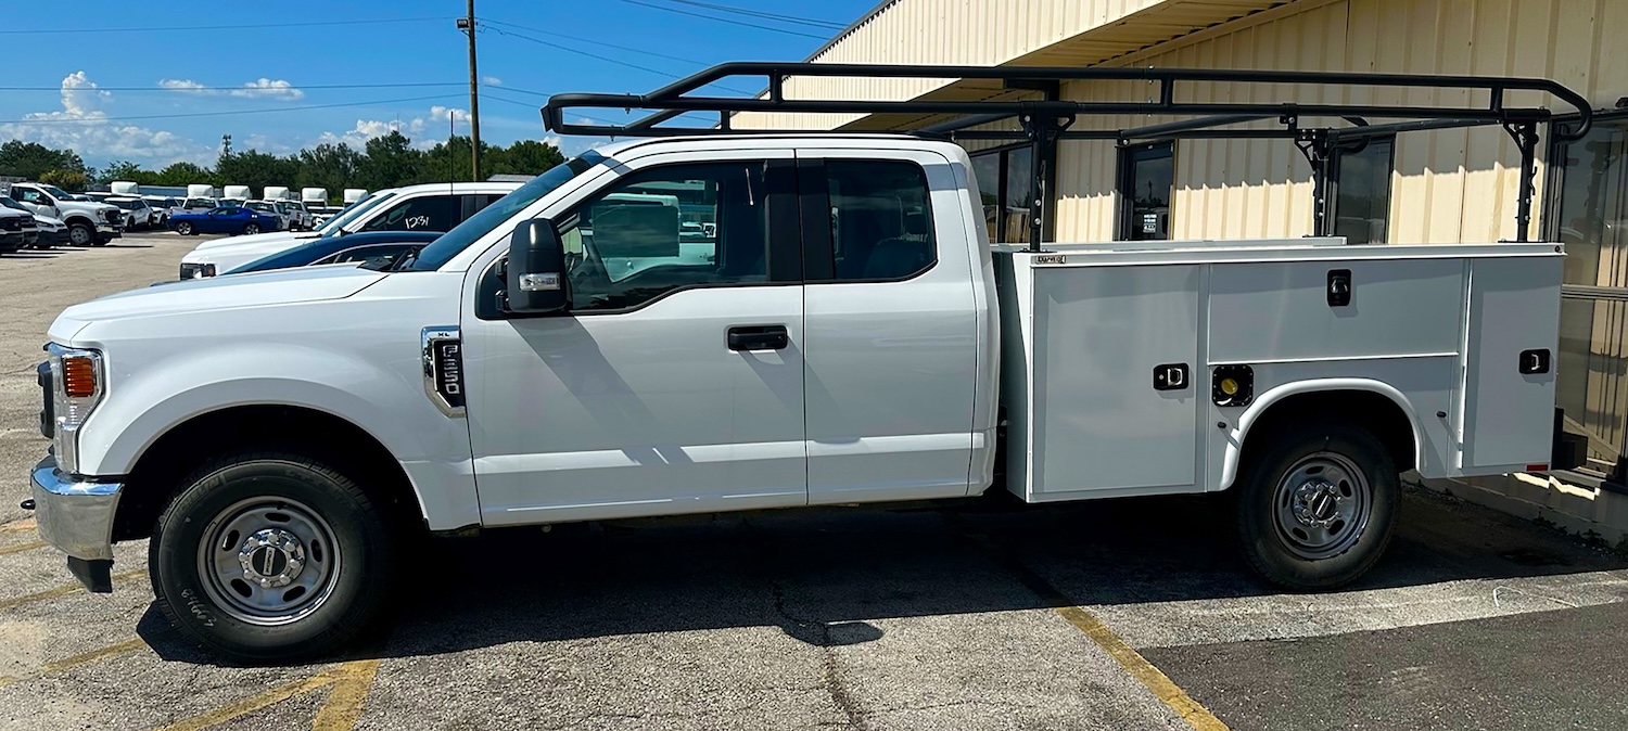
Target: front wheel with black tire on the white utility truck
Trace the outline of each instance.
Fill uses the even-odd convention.
[[[265,663],[335,653],[373,624],[387,596],[392,536],[355,480],[309,457],[259,453],[223,457],[184,484],[158,518],[148,554],[158,609],[184,635],[228,658]],[[244,513],[254,518],[231,518]],[[256,529],[262,519],[270,523]],[[300,536],[301,526],[317,537],[293,542],[298,554],[287,542],[274,550],[254,542],[285,541],[277,537],[283,529]],[[303,565],[291,568],[296,555]],[[252,580],[247,568],[241,580],[230,578],[231,562],[262,558],[267,573],[283,571],[272,581],[295,573],[282,584],[288,589],[257,591],[243,581]],[[301,580],[308,570],[319,576]],[[287,601],[301,581],[313,584],[288,607],[251,599]]]

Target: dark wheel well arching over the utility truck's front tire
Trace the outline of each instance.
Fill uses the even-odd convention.
[[[164,506],[204,462],[228,453],[283,451],[322,461],[357,480],[392,527],[423,529],[423,514],[400,462],[360,427],[314,409],[241,405],[192,417],[158,438],[125,482],[114,541],[150,537]]]

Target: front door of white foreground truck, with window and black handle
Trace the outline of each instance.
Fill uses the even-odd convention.
[[[552,215],[568,314],[466,309],[488,526],[807,500],[790,151],[653,158]]]

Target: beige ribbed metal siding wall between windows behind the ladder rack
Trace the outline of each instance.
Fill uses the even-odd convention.
[[[1307,7],[1309,5],[1309,7]],[[1304,10],[1302,10],[1304,8]],[[1302,0],[1245,21],[1195,34],[1174,49],[1114,62],[1148,67],[1301,68],[1397,73],[1480,73],[1555,78],[1610,107],[1628,94],[1625,0]],[[1074,99],[1136,99],[1127,85],[1074,83]],[[1237,94],[1237,96],[1234,96]],[[1350,103],[1467,103],[1467,91],[1327,88],[1179,88],[1187,99],[1250,98]],[[1480,103],[1481,99],[1475,99]],[[1553,104],[1509,94],[1509,104]],[[1125,125],[1166,119],[1120,120]],[[1104,120],[1105,122],[1105,120]],[[1547,132],[1547,130],[1545,130]],[[1547,140],[1538,147],[1540,233]],[[1070,142],[1058,161],[1058,238],[1102,241],[1114,234],[1115,147]],[[1175,238],[1278,238],[1312,230],[1311,168],[1284,140],[1184,140],[1175,148]],[[1521,156],[1499,129],[1400,135],[1390,190],[1394,243],[1511,239]]]

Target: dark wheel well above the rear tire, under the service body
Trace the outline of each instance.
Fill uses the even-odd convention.
[[[1244,435],[1242,459],[1258,453],[1265,441],[1275,440],[1284,431],[1307,423],[1328,422],[1368,430],[1390,453],[1397,471],[1405,472],[1418,466],[1413,422],[1395,401],[1374,391],[1314,391],[1288,396],[1271,404]]]

